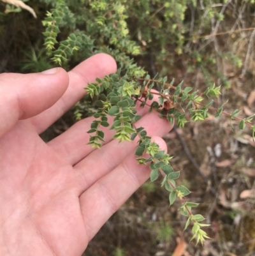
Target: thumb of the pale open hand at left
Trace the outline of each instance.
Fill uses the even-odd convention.
[[[18,120],[36,116],[54,105],[68,83],[68,73],[62,68],[25,75],[0,74],[0,137]]]

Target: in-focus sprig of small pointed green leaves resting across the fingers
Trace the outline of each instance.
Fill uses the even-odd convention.
[[[170,192],[170,206],[178,198],[181,203],[179,211],[187,217],[184,230],[192,223],[193,237],[191,240],[196,239],[196,243],[203,243],[209,237],[201,228],[209,225],[201,223],[205,220],[202,215],[193,215],[192,213],[192,208],[199,204],[187,202],[185,199],[191,192],[186,186],[176,185],[175,180],[179,178],[180,172],[175,172],[171,167],[169,161],[172,157],[159,149],[159,145],[151,140],[144,128],[136,128],[135,123],[141,116],[136,115],[135,105],[138,102],[142,107],[149,105],[147,101],[152,100],[153,95],[156,94],[158,100],[149,105],[149,111],[159,112],[159,116],[168,119],[170,123],[176,121],[180,127],[183,127],[189,121],[186,118],[187,112],[191,116],[191,121],[204,121],[209,116],[208,110],[214,110],[217,117],[224,114],[230,117],[230,120],[238,120],[241,129],[245,125],[249,125],[252,128],[252,133],[254,133],[255,128],[250,123],[255,114],[240,119],[237,117],[239,110],[235,110],[232,114],[223,111],[225,103],[219,109],[212,107],[214,100],[210,100],[210,97],[218,97],[221,94],[220,87],[215,87],[215,85],[208,87],[204,93],[199,94],[198,91],[193,92],[191,87],[182,89],[182,83],[175,87],[173,81],[168,84],[166,80],[166,77],[157,80],[155,78],[150,79],[149,75],[145,78],[128,75],[121,77],[120,70],[118,70],[116,74],[106,76],[105,79],[97,79],[97,83],[89,84],[85,88],[87,93],[92,97],[99,97],[96,102],[98,112],[94,114],[96,120],[93,121],[91,130],[89,130],[89,133],[95,133],[95,135],[91,136],[89,144],[92,144],[92,147],[101,147],[104,133],[99,130],[99,126],[109,125],[106,115],[114,117],[113,124],[110,127],[111,130],[115,130],[113,139],[122,142],[123,140],[135,140],[138,137],[138,147],[135,152],[138,156],[136,158],[137,162],[144,165],[149,164],[151,170],[150,181],[156,181],[159,176],[162,176],[161,186]],[[156,85],[161,88],[159,92],[152,90]],[[202,103],[205,100],[208,103]]]

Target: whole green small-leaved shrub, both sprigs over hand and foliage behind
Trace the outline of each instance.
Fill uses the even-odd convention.
[[[95,120],[91,124],[91,138],[88,144],[101,147],[104,133],[101,126],[109,126],[108,116],[115,117],[110,129],[115,130],[114,139],[120,142],[133,140],[138,136],[136,149],[137,160],[140,164],[150,163],[150,180],[155,181],[160,175],[163,177],[162,186],[170,192],[170,205],[179,198],[182,215],[187,216],[186,227],[193,223],[193,238],[197,242],[205,240],[207,234],[201,227],[208,226],[200,223],[201,215],[193,215],[192,207],[198,206],[187,202],[184,198],[189,195],[185,186],[175,186],[175,179],[179,172],[173,171],[169,160],[171,156],[159,150],[159,146],[152,142],[143,128],[136,127],[140,116],[136,115],[135,105],[147,105],[153,94],[159,95],[159,101],[150,105],[150,111],[174,121],[183,127],[187,121],[203,121],[208,112],[215,112],[219,117],[225,114],[239,121],[239,128],[249,126],[252,135],[255,126],[251,124],[251,117],[238,118],[239,110],[228,114],[223,110],[224,104],[214,107],[214,99],[221,92],[221,86],[229,87],[221,67],[231,62],[240,67],[242,62],[229,49],[222,49],[216,39],[221,21],[231,16],[226,11],[232,1],[191,1],[191,0],[91,0],[71,1],[40,0],[35,9],[40,7],[47,10],[42,24],[44,48],[41,38],[37,45],[25,49],[22,62],[24,70],[41,71],[47,67],[64,66],[67,70],[83,59],[99,52],[112,55],[119,66],[117,73],[108,75],[104,79],[97,79],[86,88],[87,95],[94,99],[97,109]],[[240,5],[249,9],[252,1],[240,1]],[[237,8],[237,6],[235,6]],[[8,12],[20,11],[7,6]],[[2,13],[3,15],[3,13]],[[135,56],[152,57],[152,63],[160,70],[159,78],[156,74],[149,75],[144,68],[133,59]],[[184,87],[182,83],[174,86],[173,80],[168,82],[163,77],[176,61],[185,61],[187,74],[200,70],[207,88],[202,92],[193,91],[191,87]],[[34,70],[33,70],[34,69]],[[153,72],[152,70],[152,73]],[[171,74],[174,75],[174,74]],[[215,86],[217,81],[218,86]],[[159,93],[152,91],[158,88]],[[87,98],[86,98],[87,99]],[[75,116],[84,116],[87,103],[80,101],[75,107]],[[190,118],[187,118],[189,116]],[[145,157],[145,153],[149,157]]]

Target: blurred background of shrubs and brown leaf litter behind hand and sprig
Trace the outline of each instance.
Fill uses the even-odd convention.
[[[30,0],[26,4],[37,19],[0,1],[0,72],[40,72],[59,63],[69,70],[96,52],[108,52],[129,74],[159,73],[175,78],[175,85],[183,80],[184,86],[200,91],[215,82],[222,85],[218,107],[228,99],[228,112],[240,109],[242,117],[254,113],[253,1]],[[52,8],[59,27],[47,15]],[[45,40],[43,33],[51,39]],[[82,100],[43,133],[43,139],[64,132],[92,105]],[[228,119],[209,117],[202,124],[175,128],[165,139],[175,156],[171,163],[181,171],[179,183],[193,192],[192,201],[201,202],[197,211],[212,223],[208,229],[212,239],[203,248],[187,245],[190,236],[182,232],[185,220],[177,212],[179,205],[169,208],[168,194],[160,184],[146,183],[106,223],[85,255],[254,255],[251,131],[233,132]]]

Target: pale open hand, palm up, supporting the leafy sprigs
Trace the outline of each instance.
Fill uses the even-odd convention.
[[[39,134],[116,63],[97,54],[70,72],[0,74],[0,255],[80,256],[102,225],[150,176],[135,160],[136,142],[105,130],[100,150],[86,145],[92,117],[48,143]],[[161,149],[170,124],[137,108]]]

